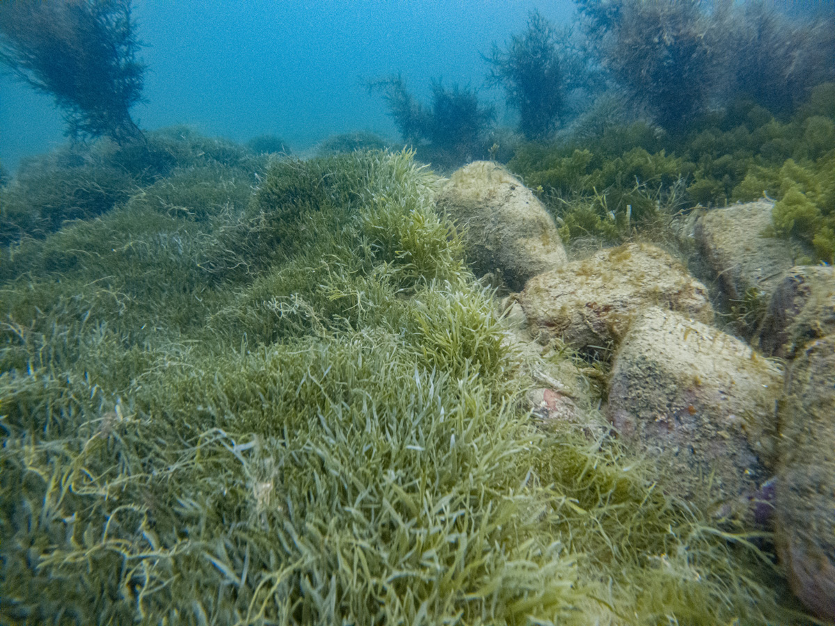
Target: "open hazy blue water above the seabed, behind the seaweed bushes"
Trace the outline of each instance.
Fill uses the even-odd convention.
[[[421,98],[431,78],[482,87],[480,53],[523,31],[533,8],[554,23],[574,12],[570,0],[138,0],[148,102],[134,119],[239,141],[277,134],[294,150],[352,130],[397,139],[361,77],[401,71]],[[0,163],[13,170],[62,141],[51,99],[0,76]]]

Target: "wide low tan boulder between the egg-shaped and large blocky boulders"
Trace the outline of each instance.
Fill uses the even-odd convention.
[[[648,306],[680,310],[710,322],[707,289],[664,250],[626,244],[600,250],[529,280],[519,302],[543,339],[557,337],[582,351],[618,341]]]

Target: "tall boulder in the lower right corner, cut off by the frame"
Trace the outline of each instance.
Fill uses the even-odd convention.
[[[777,553],[797,597],[835,620],[835,335],[792,363],[779,418]]]

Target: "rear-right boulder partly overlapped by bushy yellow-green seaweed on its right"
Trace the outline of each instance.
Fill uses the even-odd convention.
[[[696,242],[731,300],[742,300],[751,287],[770,295],[794,265],[787,241],[762,236],[772,225],[773,206],[737,204],[708,211],[696,223]]]

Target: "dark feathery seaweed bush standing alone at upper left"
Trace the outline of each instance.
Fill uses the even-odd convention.
[[[140,139],[130,118],[145,66],[136,60],[130,0],[0,4],[0,62],[55,99],[71,136]]]

